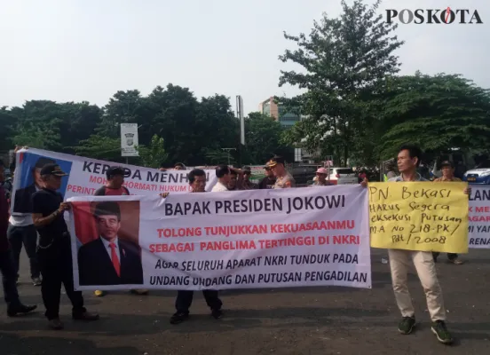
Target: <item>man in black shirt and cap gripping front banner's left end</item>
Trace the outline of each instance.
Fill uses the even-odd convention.
[[[61,178],[66,176],[59,165],[45,165],[41,170],[43,189],[32,196],[32,217],[39,233],[38,258],[43,275],[41,293],[46,307],[45,316],[53,329],[63,328],[59,320],[61,283],[73,304],[73,319],[99,319],[98,314],[87,312],[83,307],[82,292],[74,289],[71,241],[63,218],[70,205],[63,202],[63,196],[56,191],[61,185]]]

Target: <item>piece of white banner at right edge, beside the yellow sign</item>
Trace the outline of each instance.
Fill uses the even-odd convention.
[[[470,185],[470,248],[490,248],[490,186]]]

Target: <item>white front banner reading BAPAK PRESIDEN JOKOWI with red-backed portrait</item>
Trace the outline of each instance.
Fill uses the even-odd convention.
[[[75,288],[371,288],[367,200],[360,185],[72,198]]]

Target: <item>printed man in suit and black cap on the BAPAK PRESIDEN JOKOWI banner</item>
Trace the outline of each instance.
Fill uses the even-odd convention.
[[[119,238],[119,203],[99,202],[93,215],[99,238],[86,243],[78,251],[80,285],[142,285],[141,248]]]

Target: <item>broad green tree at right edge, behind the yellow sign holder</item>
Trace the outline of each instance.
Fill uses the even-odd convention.
[[[490,91],[461,75],[394,76],[383,93],[381,159],[414,142],[427,153],[490,149]]]

